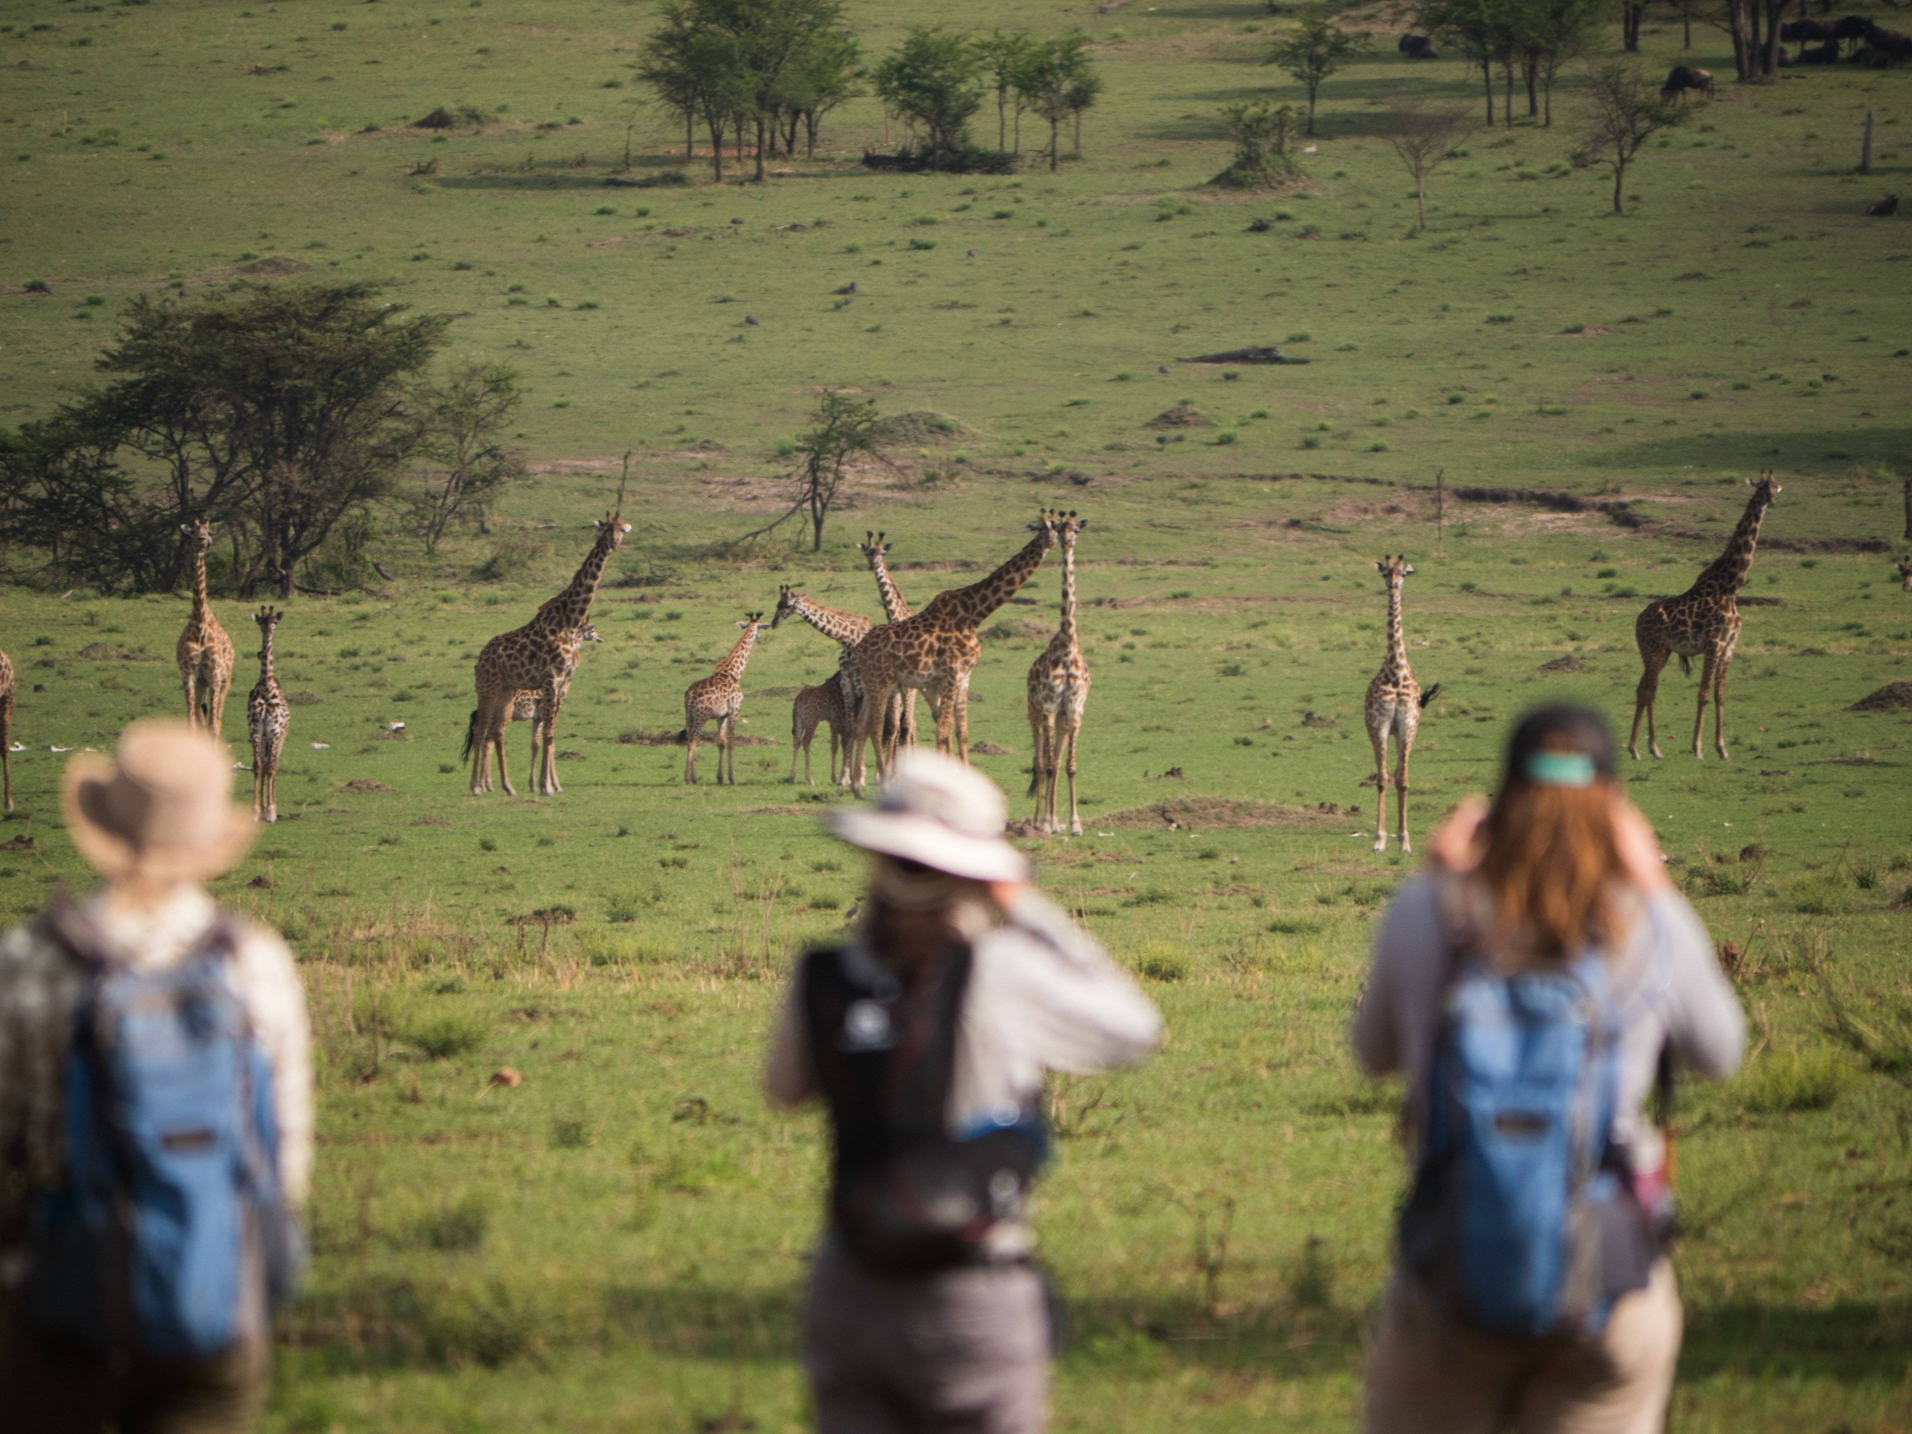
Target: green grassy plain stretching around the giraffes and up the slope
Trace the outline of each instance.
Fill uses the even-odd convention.
[[[878,54],[931,15],[853,13]],[[1562,94],[1551,130],[1468,140],[1407,239],[1379,105],[1474,90],[1459,63],[1398,61],[1379,19],[1377,57],[1323,92],[1308,189],[1224,197],[1203,187],[1228,161],[1214,113],[1281,78],[1254,63],[1277,23],[1262,6],[1055,11],[1097,38],[1109,84],[1054,176],[872,174],[853,163],[883,145],[864,99],[828,120],[828,159],[767,185],[715,189],[692,163],[688,187],[606,189],[631,122],[635,176],[683,164],[631,82],[650,17],[556,0],[4,15],[10,421],[86,382],[128,296],[294,273],[455,312],[451,352],[509,359],[530,390],[518,442],[539,474],[493,537],[426,558],[392,520],[380,595],[294,598],[279,629],[281,822],[220,885],[293,937],[321,1044],[317,1260],[272,1428],[803,1426],[822,1132],[769,1115],[757,1067],[790,952],[837,929],[860,881],[816,822],[841,797],[784,786],[788,698],[834,669],[832,644],[765,635],[734,790],[684,788],[683,750],[650,738],[778,583],[876,614],[864,528],[889,532],[920,604],[1055,503],[1090,518],[1088,834],[1027,845],[1172,1032],[1141,1071],[1055,1094],[1040,1229],[1073,1319],[1055,1424],[1348,1426],[1401,1187],[1390,1092],[1342,1038],[1407,870],[1371,851],[1361,786],[1373,558],[1415,562],[1411,658],[1445,684],[1415,751],[1424,834],[1493,780],[1526,704],[1574,696],[1625,725],[1635,612],[1711,560],[1769,467],[1786,491],[1746,589],[1732,761],[1686,755],[1694,681],[1669,669],[1669,755],[1627,772],[1744,952],[1755,1031],[1738,1080],[1683,1099],[1675,1428],[1912,1426],[1912,727],[1851,711],[1912,677],[1912,595],[1883,547],[1902,524],[1912,241],[1862,218],[1904,184],[1912,76],[1723,82],[1642,157],[1623,218],[1604,178],[1562,172]],[[1002,4],[964,19],[1029,23]],[[1723,36],[1698,34],[1686,59],[1730,73]],[[1675,25],[1650,33],[1646,61],[1677,44]],[[436,105],[489,119],[444,141],[407,128]],[[1249,233],[1254,216],[1273,229]],[[1249,342],[1315,361],[1174,361]],[[774,514],[776,445],[822,384],[946,428],[904,426],[901,470],[857,486],[822,554],[795,533],[717,554]],[[1178,402],[1210,424],[1147,426]],[[564,709],[566,792],[472,799],[472,658],[566,581],[627,447],[635,532]],[[1436,535],[1436,470],[1554,497],[1449,493]],[[493,558],[511,576],[476,577]],[[1023,673],[1055,595],[1050,566],[975,679],[977,763],[1023,815]],[[249,604],[218,606],[249,652]],[[33,837],[0,851],[6,916],[84,880],[50,748],[180,706],[184,612],[0,591],[25,744],[6,836]],[[233,706],[252,677],[243,658]],[[243,748],[243,717],[226,730]],[[516,725],[516,778],[526,746]],[[489,1084],[501,1067],[522,1084]]]

